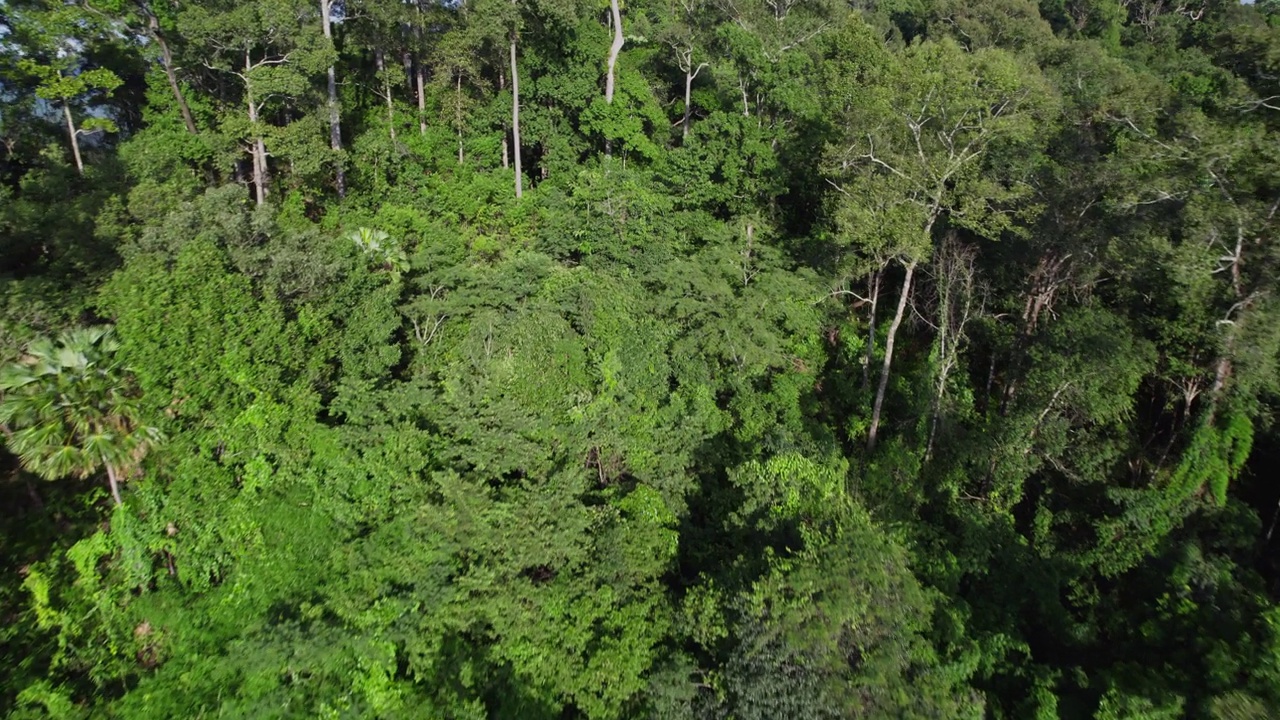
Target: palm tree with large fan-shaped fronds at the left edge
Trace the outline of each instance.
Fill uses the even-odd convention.
[[[40,338],[0,369],[0,428],[23,466],[49,480],[106,470],[115,505],[120,482],[163,438],[140,421],[119,342],[108,327]]]

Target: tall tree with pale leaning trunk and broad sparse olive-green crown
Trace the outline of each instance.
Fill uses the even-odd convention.
[[[849,32],[859,50],[874,42],[856,24]],[[1051,97],[1000,50],[922,42],[888,65],[877,64],[882,53],[852,53],[832,65],[828,86],[847,128],[828,147],[837,222],[855,252],[895,259],[904,270],[867,430],[874,450],[893,346],[934,227],[947,222],[992,238],[1014,227],[1014,201],[1027,187],[988,177],[983,163],[993,147],[1033,145]]]

